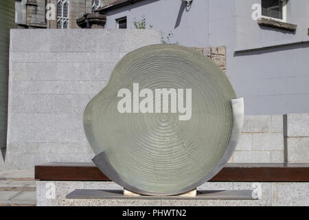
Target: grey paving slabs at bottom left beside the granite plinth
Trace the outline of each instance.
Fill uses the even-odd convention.
[[[0,206],[36,206],[33,170],[0,170]]]

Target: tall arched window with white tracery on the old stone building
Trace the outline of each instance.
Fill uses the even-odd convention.
[[[57,28],[69,28],[69,0],[57,0]]]

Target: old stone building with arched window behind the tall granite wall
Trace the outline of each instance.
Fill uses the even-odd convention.
[[[106,3],[108,0],[15,0],[16,27],[80,28],[76,19]]]

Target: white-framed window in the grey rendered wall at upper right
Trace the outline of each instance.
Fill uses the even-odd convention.
[[[286,0],[262,0],[262,17],[286,21]]]

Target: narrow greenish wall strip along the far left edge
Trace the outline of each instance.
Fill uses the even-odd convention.
[[[15,25],[14,0],[0,1],[0,150],[5,157],[8,123],[8,74],[10,28]],[[3,159],[0,155],[0,159]]]

